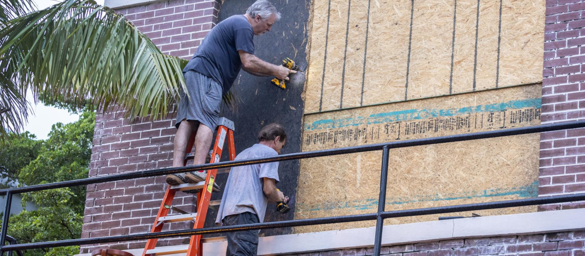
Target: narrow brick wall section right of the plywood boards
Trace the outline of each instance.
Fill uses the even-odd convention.
[[[546,0],[543,124],[585,119],[585,2]],[[585,129],[541,134],[540,196],[585,192]],[[585,202],[539,210],[585,207]]]

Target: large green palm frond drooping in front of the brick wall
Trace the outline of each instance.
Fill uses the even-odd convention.
[[[0,0],[13,1],[13,0]],[[0,29],[0,130],[26,119],[26,91],[89,100],[101,109],[154,119],[185,87],[187,60],[166,56],[132,25],[91,0],[67,0],[8,20]],[[3,119],[4,118],[4,119]]]

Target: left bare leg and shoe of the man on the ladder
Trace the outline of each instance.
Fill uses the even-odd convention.
[[[193,133],[197,130],[198,122],[187,121],[183,119],[177,133],[175,134],[173,146],[173,167],[183,167],[185,162],[185,154],[187,153],[187,145]],[[191,148],[188,149],[191,151]],[[185,174],[170,174],[167,175],[167,183],[171,185],[178,185],[185,183]]]

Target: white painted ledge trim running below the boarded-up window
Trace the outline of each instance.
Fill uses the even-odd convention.
[[[581,230],[585,229],[583,216],[585,209],[572,209],[390,225],[384,226],[382,245]],[[260,237],[258,255],[373,247],[375,232],[375,227],[367,227]],[[203,254],[223,255],[226,246],[226,241],[205,243]],[[130,252],[139,255],[142,250]]]

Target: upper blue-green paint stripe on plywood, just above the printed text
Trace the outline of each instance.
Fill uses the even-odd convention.
[[[334,129],[362,124],[393,123],[408,120],[418,120],[432,117],[460,116],[470,113],[496,112],[506,109],[541,108],[541,98],[522,99],[480,106],[468,106],[459,109],[408,109],[386,113],[372,114],[367,117],[349,117],[342,119],[322,119],[304,124],[305,130]]]

